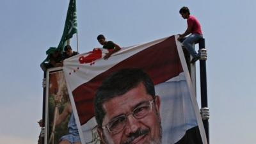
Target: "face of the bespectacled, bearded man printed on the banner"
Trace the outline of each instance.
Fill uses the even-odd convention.
[[[100,138],[107,144],[160,144],[160,99],[148,95],[143,83],[103,103],[106,115]]]

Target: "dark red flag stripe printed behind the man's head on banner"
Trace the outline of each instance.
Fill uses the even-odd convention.
[[[152,78],[154,84],[163,83],[172,77],[178,76],[183,70],[175,44],[175,37],[170,36],[163,42],[152,45],[124,61],[120,61],[109,70],[78,86],[72,93],[81,125],[94,116],[93,97],[102,80],[109,76],[111,72],[131,67],[142,68]]]

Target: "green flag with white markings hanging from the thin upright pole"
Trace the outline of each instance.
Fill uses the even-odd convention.
[[[58,50],[63,51],[65,42],[72,38],[74,33],[77,33],[77,18],[76,18],[76,0],[70,0],[67,12],[67,18],[65,22],[65,28],[63,35],[61,36]]]

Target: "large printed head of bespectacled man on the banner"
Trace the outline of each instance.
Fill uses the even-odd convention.
[[[94,109],[104,143],[161,143],[160,99],[143,70],[125,68],[107,77],[96,92]]]

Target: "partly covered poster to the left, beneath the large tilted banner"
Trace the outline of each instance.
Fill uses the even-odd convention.
[[[58,144],[65,140],[80,142],[63,70],[49,69],[47,80],[45,143]]]

